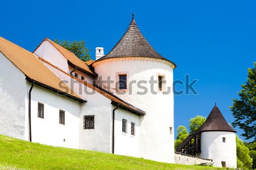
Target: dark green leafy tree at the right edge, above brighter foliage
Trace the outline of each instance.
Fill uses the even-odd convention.
[[[233,106],[230,107],[236,119],[232,125],[243,129],[243,137],[256,142],[256,62],[253,69],[248,69],[247,81],[242,84],[238,95],[240,99],[233,99]]]

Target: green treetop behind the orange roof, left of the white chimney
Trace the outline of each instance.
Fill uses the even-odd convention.
[[[54,42],[73,52],[81,61],[89,61],[91,59],[90,50],[86,48],[84,40],[71,42],[55,39]]]

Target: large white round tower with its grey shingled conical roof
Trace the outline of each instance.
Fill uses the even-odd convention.
[[[92,64],[105,90],[146,112],[139,117],[139,155],[174,163],[173,70],[139,31],[134,17],[114,48]],[[101,80],[110,80],[101,83]]]

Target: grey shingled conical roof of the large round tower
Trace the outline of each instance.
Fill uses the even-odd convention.
[[[115,44],[114,48],[104,57],[97,59],[97,61],[101,61],[102,59],[107,58],[119,57],[152,57],[168,61],[168,59],[158,54],[155,49],[152,48],[152,46],[147,42],[141,31],[139,31],[139,28],[134,20],[134,16],[127,31],[117,42],[117,44]]]

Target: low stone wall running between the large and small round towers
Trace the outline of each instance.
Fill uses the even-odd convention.
[[[212,159],[203,159],[196,156],[181,154],[179,152],[175,152],[175,163],[176,164],[184,164],[184,165],[212,165]]]

